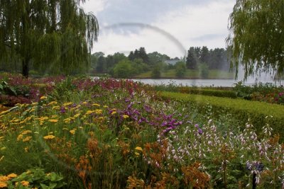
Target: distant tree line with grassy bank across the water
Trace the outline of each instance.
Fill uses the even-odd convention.
[[[187,57],[170,58],[159,52],[146,53],[144,47],[133,50],[126,57],[123,53],[105,56],[95,52],[91,56],[92,73],[110,74],[114,77],[128,78],[146,71],[151,71],[152,78],[159,78],[161,72],[175,69],[175,76],[182,78],[187,69],[199,70],[206,78],[209,69],[229,71],[227,51],[223,48],[209,50],[207,47],[190,47]],[[168,62],[175,62],[169,64]]]

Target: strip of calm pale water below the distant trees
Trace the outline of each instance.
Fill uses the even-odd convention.
[[[160,85],[175,84],[182,86],[233,86],[238,81],[234,79],[132,79],[143,84]],[[271,82],[269,82],[271,83]],[[278,86],[283,85],[284,81],[272,82]],[[246,82],[246,85],[253,85],[254,82]]]

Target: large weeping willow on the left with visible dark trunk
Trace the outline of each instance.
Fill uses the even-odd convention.
[[[50,74],[73,74],[89,66],[99,25],[84,13],[84,0],[0,0],[0,61],[21,61]]]

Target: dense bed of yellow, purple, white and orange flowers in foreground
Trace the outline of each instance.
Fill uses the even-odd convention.
[[[222,130],[133,81],[65,79],[0,118],[0,187],[18,178],[12,168],[34,166],[60,170],[67,188],[245,188],[253,173],[259,188],[284,181],[284,145],[269,125],[261,135],[249,123]]]

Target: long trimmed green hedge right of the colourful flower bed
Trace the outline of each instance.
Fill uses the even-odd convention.
[[[212,113],[215,118],[224,112],[231,113],[236,120],[239,120],[241,127],[244,127],[249,120],[258,134],[261,134],[263,126],[269,124],[273,128],[273,132],[279,133],[281,141],[284,141],[283,105],[185,93],[160,92],[160,96],[190,103],[195,106],[198,113],[206,113],[206,107],[212,105]]]

